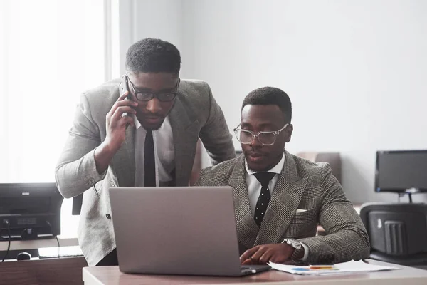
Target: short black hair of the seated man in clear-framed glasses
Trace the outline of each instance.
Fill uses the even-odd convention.
[[[285,91],[275,87],[261,87],[251,91],[243,100],[246,105],[277,105],[285,116],[285,123],[292,120],[292,103]]]

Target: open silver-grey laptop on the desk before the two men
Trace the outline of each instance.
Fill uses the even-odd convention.
[[[244,276],[231,187],[110,187],[120,271]]]

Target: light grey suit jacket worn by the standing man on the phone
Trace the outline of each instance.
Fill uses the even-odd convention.
[[[84,192],[78,240],[90,266],[115,249],[108,187],[135,183],[135,128],[127,128],[126,140],[105,173],[100,175],[95,167],[95,148],[105,140],[105,115],[119,97],[119,82],[107,82],[81,95],[56,167],[56,183],[65,198]],[[169,119],[177,186],[189,183],[199,137],[214,164],[236,157],[222,110],[207,83],[181,80]]]

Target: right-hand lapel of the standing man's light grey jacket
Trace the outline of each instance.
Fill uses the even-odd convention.
[[[176,186],[186,186],[189,183],[194,155],[196,154],[199,121],[193,121],[189,118],[180,98],[181,94],[178,93],[174,107],[169,113],[169,121],[174,133]]]

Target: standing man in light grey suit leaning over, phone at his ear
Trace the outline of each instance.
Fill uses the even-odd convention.
[[[180,80],[180,67],[174,45],[146,38],[127,51],[121,82],[80,97],[56,183],[65,198],[84,193],[78,240],[90,266],[117,264],[108,187],[188,185],[199,138],[214,165],[236,157],[208,84]]]

